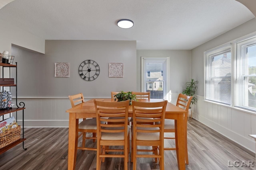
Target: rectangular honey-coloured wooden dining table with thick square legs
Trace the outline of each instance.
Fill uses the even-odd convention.
[[[116,102],[110,98],[96,98],[95,100],[104,102]],[[139,99],[140,102],[161,102],[163,99]],[[68,170],[74,170],[76,166],[76,154],[78,145],[78,121],[83,118],[96,117],[94,99],[78,104],[71,109],[66,110],[69,113],[69,132],[68,132]],[[187,113],[184,109],[167,103],[165,119],[175,120],[175,133],[178,141],[176,146],[177,162],[179,170],[185,170],[185,132],[184,117]],[[129,117],[132,117],[132,106],[129,106]],[[165,160],[166,161],[166,160]]]

